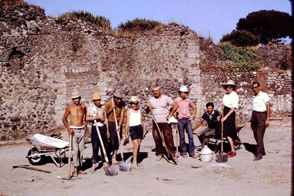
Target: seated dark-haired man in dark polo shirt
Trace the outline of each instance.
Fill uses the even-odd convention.
[[[193,127],[193,131],[196,130],[200,125],[203,123],[204,120],[206,120],[208,124],[208,128],[204,129],[203,131],[197,133],[198,139],[202,145],[201,148],[204,147],[205,143],[209,143],[209,138],[214,135],[216,131],[216,127],[218,125],[218,122],[220,121],[220,113],[218,110],[213,110],[214,105],[212,102],[208,102],[206,104],[207,112],[205,112],[201,119],[198,121],[198,123]]]

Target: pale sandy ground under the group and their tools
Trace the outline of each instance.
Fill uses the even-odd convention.
[[[56,176],[66,176],[68,165],[57,168],[49,159],[49,163],[36,167],[52,171],[50,174],[12,169],[13,165],[29,165],[25,156],[30,145],[1,145],[0,195],[290,195],[291,128],[278,125],[267,128],[264,138],[267,155],[257,162],[253,161],[249,148],[255,144],[250,128],[241,130],[240,139],[246,144],[227,163],[217,163],[215,155],[208,163],[180,156],[178,165],[173,165],[165,159],[155,160],[152,152],[155,144],[148,134],[141,146],[143,169],[121,172],[116,166],[118,175],[108,177],[99,168],[94,174],[80,175],[81,179],[76,180],[58,180]],[[196,136],[194,142],[199,145]],[[84,161],[89,172],[92,146],[86,144],[86,147]],[[124,151],[130,161],[132,150],[124,148]],[[203,167],[193,169],[191,165]]]

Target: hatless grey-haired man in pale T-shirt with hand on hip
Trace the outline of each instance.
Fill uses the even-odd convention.
[[[148,114],[150,112],[150,106],[152,112],[155,116],[155,119],[158,123],[159,129],[163,133],[163,138],[166,143],[166,147],[168,149],[168,154],[170,154],[175,161],[178,162],[178,159],[175,155],[175,145],[173,143],[173,132],[171,129],[171,125],[168,124],[168,119],[171,118],[173,113],[176,112],[178,108],[178,104],[176,104],[170,97],[161,94],[161,88],[158,85],[153,86],[152,93],[154,97],[151,97],[149,101],[146,103],[145,111]],[[169,112],[169,106],[172,106],[171,112]],[[156,127],[155,122],[153,122],[153,138],[156,146],[156,160],[161,160],[163,157],[163,145],[160,134]]]

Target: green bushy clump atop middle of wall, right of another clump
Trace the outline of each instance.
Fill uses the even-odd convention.
[[[153,30],[158,26],[163,26],[163,24],[155,20],[135,18],[119,24],[117,29],[118,31],[143,32]]]

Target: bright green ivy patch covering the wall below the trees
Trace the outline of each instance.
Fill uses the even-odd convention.
[[[223,57],[234,62],[225,66],[229,71],[254,71],[260,67],[253,62],[257,53],[252,48],[236,47],[229,43],[220,44],[219,47]]]

